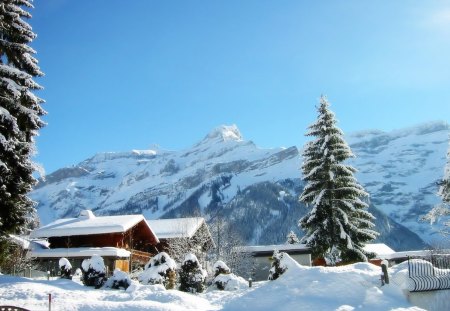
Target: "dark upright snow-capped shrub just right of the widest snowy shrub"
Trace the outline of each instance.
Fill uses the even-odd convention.
[[[180,290],[201,293],[205,289],[207,273],[202,269],[197,256],[189,253],[184,258],[180,271]]]

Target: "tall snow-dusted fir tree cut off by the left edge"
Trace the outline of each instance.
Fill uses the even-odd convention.
[[[33,209],[27,197],[36,182],[31,157],[44,126],[43,100],[33,94],[41,89],[33,78],[43,73],[29,46],[36,37],[26,22],[29,8],[27,0],[0,2],[0,253],[4,237],[20,231]]]

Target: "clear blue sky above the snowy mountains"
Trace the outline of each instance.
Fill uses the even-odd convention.
[[[344,132],[450,121],[447,1],[35,0],[47,173],[188,148],[237,124],[302,146],[326,94]]]

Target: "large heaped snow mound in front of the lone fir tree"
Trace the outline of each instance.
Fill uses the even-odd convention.
[[[225,303],[223,310],[421,310],[398,286],[381,287],[381,268],[370,263],[305,267],[286,255],[283,265],[287,270],[277,280]]]

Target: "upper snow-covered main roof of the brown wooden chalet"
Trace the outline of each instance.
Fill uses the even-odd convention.
[[[98,216],[92,211],[82,211],[77,218],[59,219],[39,229],[33,230],[31,238],[74,236],[102,233],[126,232],[139,222],[143,215]],[[144,221],[144,223],[146,223]],[[152,231],[150,229],[150,231]]]

